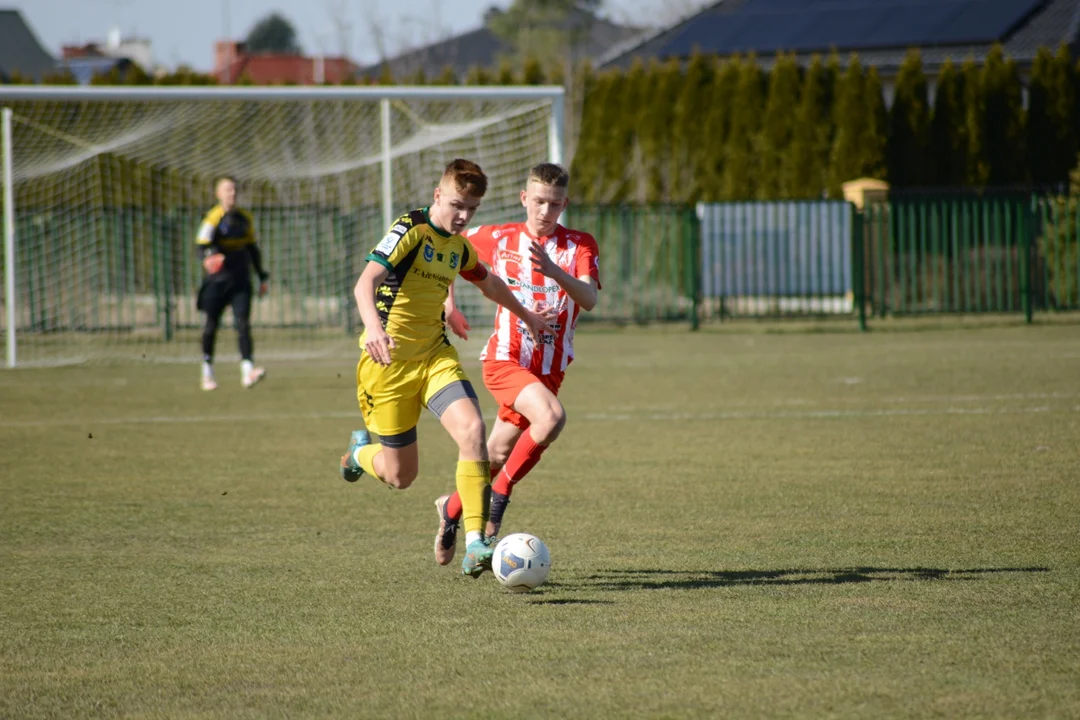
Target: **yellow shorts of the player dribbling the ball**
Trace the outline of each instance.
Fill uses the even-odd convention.
[[[476,398],[469,376],[461,367],[454,345],[444,345],[419,361],[392,363],[383,367],[363,353],[356,364],[356,399],[367,431],[387,447],[405,447],[416,441],[420,410],[436,417],[461,397]]]

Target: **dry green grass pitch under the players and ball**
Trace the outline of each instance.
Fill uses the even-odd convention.
[[[1077,326],[769,327],[580,334],[528,595],[435,565],[430,418],[338,478],[348,352],[0,372],[0,717],[1080,717]]]

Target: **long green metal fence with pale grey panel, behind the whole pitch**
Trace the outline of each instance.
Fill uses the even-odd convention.
[[[252,208],[273,293],[256,327],[352,335],[352,286],[386,231],[378,208]],[[194,328],[201,209],[23,207],[15,218],[17,330],[141,334]],[[1080,310],[1080,198],[894,198],[846,203],[578,206],[604,290],[586,321]],[[465,294],[471,316],[490,303]]]

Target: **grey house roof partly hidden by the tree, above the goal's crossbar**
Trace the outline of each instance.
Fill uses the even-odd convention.
[[[578,18],[576,22],[581,22]],[[584,57],[597,57],[608,52],[612,46],[630,38],[642,35],[642,28],[617,25],[603,17],[589,16],[589,33],[579,51]],[[502,56],[511,54],[513,47],[488,27],[478,27],[441,42],[435,42],[417,50],[402,53],[388,60],[369,65],[361,70],[361,74],[378,78],[386,66],[394,78],[407,78],[418,70],[423,70],[428,78],[433,78],[449,66],[455,74],[464,77],[470,68],[494,68]]]

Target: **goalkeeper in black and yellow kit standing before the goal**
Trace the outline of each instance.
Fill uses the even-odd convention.
[[[217,390],[214,378],[214,341],[221,313],[229,305],[240,342],[240,379],[252,388],[266,377],[266,370],[255,367],[252,355],[252,270],[259,277],[259,297],[266,295],[270,274],[262,269],[262,255],[255,241],[252,214],[237,207],[237,181],[220,177],[214,184],[215,205],[203,219],[195,241],[205,272],[195,307],[206,314],[202,337],[202,389]]]

